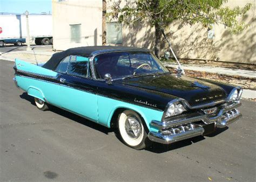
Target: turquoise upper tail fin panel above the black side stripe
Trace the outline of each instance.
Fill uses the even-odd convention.
[[[57,76],[58,73],[51,71],[50,69],[42,68],[41,66],[30,64],[29,62],[25,62],[22,60],[15,59],[15,64],[18,70],[42,74],[47,76]]]

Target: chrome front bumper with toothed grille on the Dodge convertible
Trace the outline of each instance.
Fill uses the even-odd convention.
[[[152,121],[151,126],[158,128],[159,132],[150,131],[148,137],[151,141],[169,144],[183,139],[204,135],[204,126],[214,123],[214,128],[224,128],[226,125],[238,120],[242,115],[236,109],[241,106],[239,101],[223,104],[215,116],[194,115],[179,117],[170,121]]]

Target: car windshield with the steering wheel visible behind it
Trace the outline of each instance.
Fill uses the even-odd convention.
[[[104,53],[95,57],[94,65],[98,79],[103,79],[105,74],[118,79],[169,72],[150,52]]]

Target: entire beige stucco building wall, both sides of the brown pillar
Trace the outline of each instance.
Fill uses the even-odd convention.
[[[109,6],[112,1],[107,0]],[[254,0],[230,0],[226,6],[244,6]],[[109,11],[109,9],[107,10]],[[70,47],[102,45],[102,0],[52,1],[53,48],[65,50]],[[174,22],[166,29],[173,50],[179,58],[203,59],[256,64],[255,5],[244,18],[250,24],[247,30],[229,33],[224,26],[214,25],[214,38],[208,39],[207,29],[200,25],[192,27]],[[82,24],[80,44],[70,43],[70,24]],[[96,33],[97,30],[97,33]],[[153,50],[154,28],[146,22],[123,25],[123,46],[146,47]],[[97,39],[97,41],[95,41]],[[162,39],[161,54],[167,45]]]

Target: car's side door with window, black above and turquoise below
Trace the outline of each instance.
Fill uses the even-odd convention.
[[[71,55],[66,72],[59,75],[58,97],[64,109],[97,122],[97,87],[89,70],[88,58]]]

